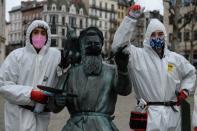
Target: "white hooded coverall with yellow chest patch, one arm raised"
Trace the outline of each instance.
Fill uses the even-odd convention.
[[[137,20],[125,17],[114,35],[112,51],[128,44],[134,34]],[[177,101],[175,90],[191,91],[195,85],[195,68],[181,55],[167,49],[165,43],[164,57],[149,44],[152,32],[161,30],[167,40],[164,25],[152,19],[145,34],[144,47],[138,48],[128,44],[124,50],[129,54],[128,71],[137,99],[148,102]],[[181,131],[180,107],[174,112],[169,106],[149,106],[147,131]]]

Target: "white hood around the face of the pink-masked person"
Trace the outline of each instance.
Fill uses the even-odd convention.
[[[27,28],[27,32],[26,32],[26,47],[30,48],[30,49],[33,49],[35,51],[34,47],[32,46],[32,44],[30,42],[30,35],[31,35],[31,32],[37,27],[43,27],[44,29],[47,30],[47,38],[48,38],[48,40],[47,40],[47,43],[45,44],[45,46],[40,51],[40,52],[43,52],[44,50],[48,50],[48,48],[51,46],[51,30],[50,30],[48,24],[45,21],[43,21],[43,20],[35,20]]]

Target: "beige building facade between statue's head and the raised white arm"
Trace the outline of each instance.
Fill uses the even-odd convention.
[[[84,0],[85,1],[85,0]],[[116,0],[89,0],[88,5],[88,26],[97,26],[104,35],[103,53],[108,56],[117,24]],[[87,1],[86,1],[87,3]]]

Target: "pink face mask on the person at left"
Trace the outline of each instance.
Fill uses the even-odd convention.
[[[32,44],[36,49],[41,49],[46,42],[46,36],[43,35],[34,35],[32,37]]]

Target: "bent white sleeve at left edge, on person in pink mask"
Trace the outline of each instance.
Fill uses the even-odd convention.
[[[11,52],[0,69],[0,94],[9,102],[14,104],[30,104],[30,93],[33,87],[17,84],[19,65],[17,56],[20,56],[17,50]]]

